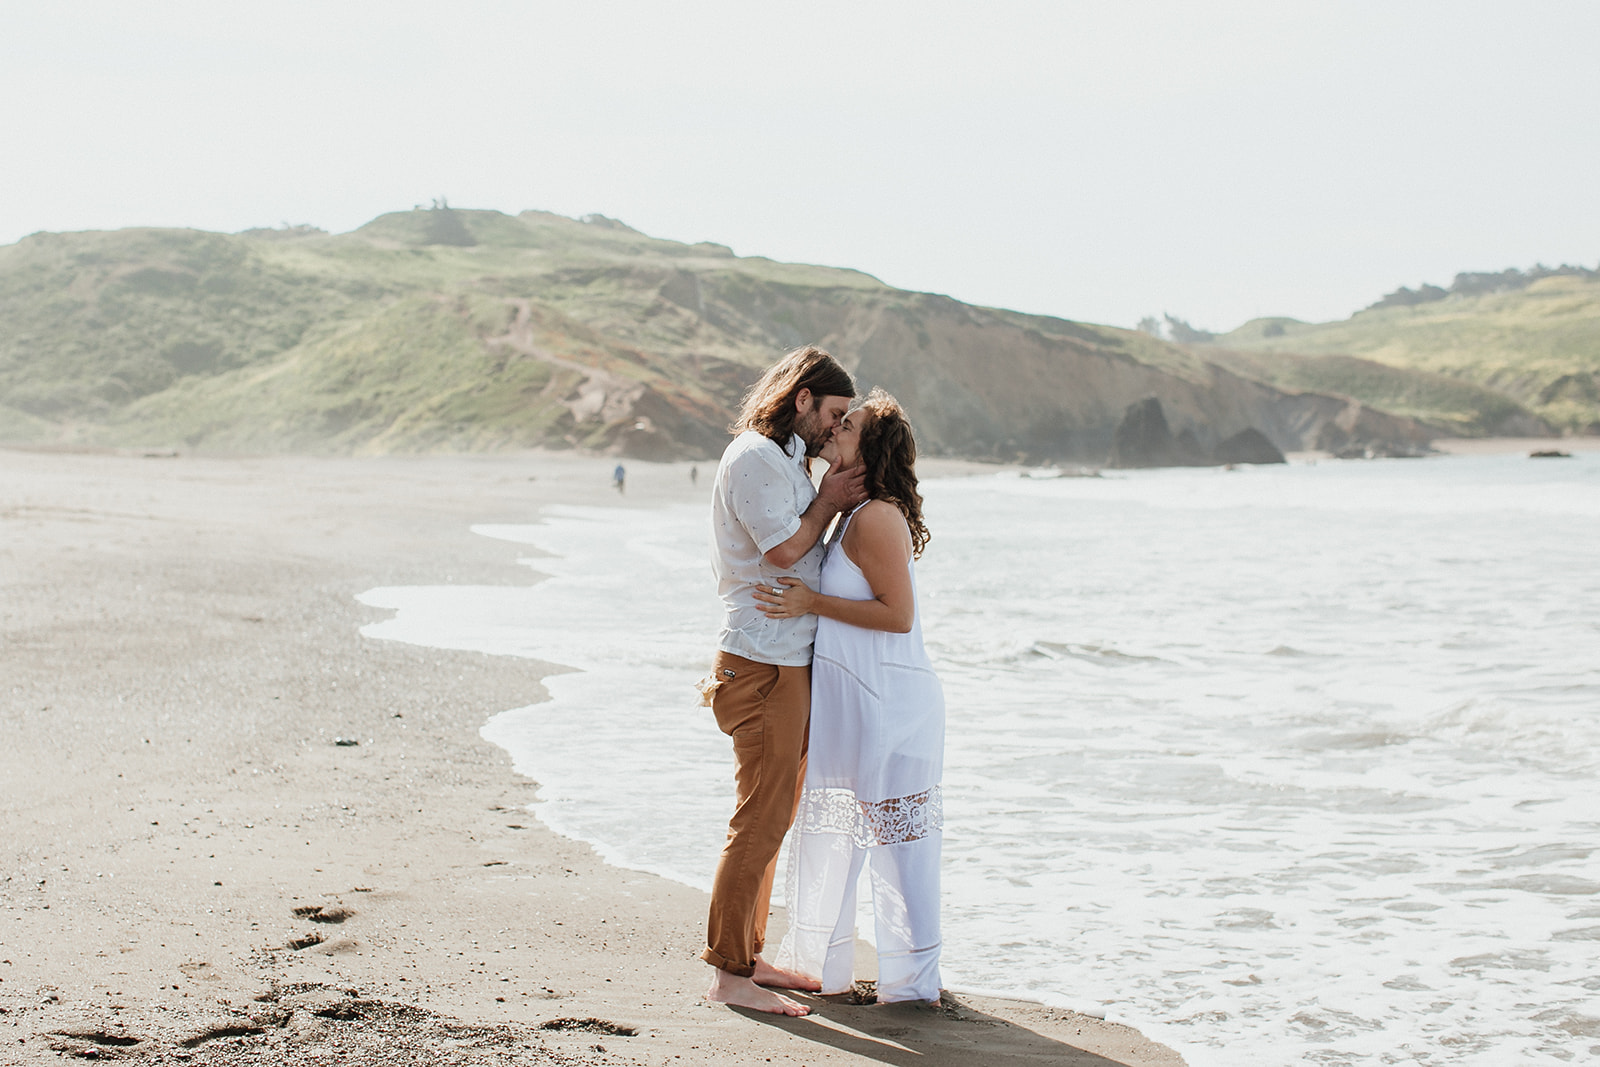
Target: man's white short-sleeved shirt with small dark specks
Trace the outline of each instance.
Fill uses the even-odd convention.
[[[800,515],[814,499],[800,437],[781,446],[746,430],[722,454],[710,501],[712,571],[725,611],[717,635],[722,651],[781,667],[811,662],[816,616],[768,619],[754,592],[784,576],[816,589],[822,573],[821,539],[787,569],[773,566],[765,555],[800,531]]]

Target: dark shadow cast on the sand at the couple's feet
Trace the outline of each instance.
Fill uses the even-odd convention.
[[[786,1030],[806,1041],[827,1045],[853,1056],[894,1067],[942,1067],[984,1064],[984,1067],[1118,1067],[1069,1041],[1045,1037],[997,1016],[984,1014],[960,998],[944,993],[939,1005],[862,1005],[850,995],[808,997],[784,990],[811,1008],[803,1019],[771,1016],[733,1008],[746,1019]],[[1083,1019],[1093,1027],[1104,1022]],[[1070,1027],[1070,1022],[1062,1029]],[[1181,1062],[1181,1061],[1179,1061]]]

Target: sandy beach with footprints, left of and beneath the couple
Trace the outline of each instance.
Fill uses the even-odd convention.
[[[478,737],[552,665],[358,633],[373,585],[534,581],[469,523],[610,470],[0,451],[0,1064],[1181,1064],[1019,1001],[701,1000],[704,894],[546,830]]]

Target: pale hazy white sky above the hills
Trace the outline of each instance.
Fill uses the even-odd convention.
[[[1600,264],[1600,5],[0,0],[0,243],[608,214],[1224,331]]]

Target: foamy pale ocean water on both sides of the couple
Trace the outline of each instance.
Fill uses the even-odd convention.
[[[944,977],[1197,1067],[1600,1056],[1600,454],[923,483]],[[707,886],[704,507],[549,509],[370,637],[570,667],[483,734],[536,814]],[[498,712],[498,713],[494,713]]]

